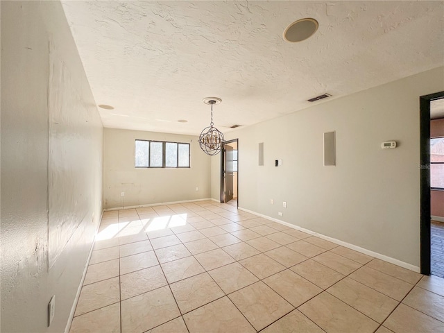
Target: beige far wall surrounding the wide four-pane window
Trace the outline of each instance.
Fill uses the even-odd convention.
[[[135,140],[189,143],[191,168],[135,168]],[[210,156],[198,137],[105,128],[103,131],[103,202],[105,208],[210,198]],[[198,187],[198,191],[196,191]],[[121,197],[121,192],[125,196]]]

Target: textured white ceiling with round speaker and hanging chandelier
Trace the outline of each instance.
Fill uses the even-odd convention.
[[[103,125],[224,133],[444,65],[444,1],[62,1]],[[316,34],[282,33],[303,17]],[[444,78],[443,78],[444,79]],[[325,100],[324,100],[325,101]],[[318,101],[315,103],[323,103]],[[187,119],[187,123],[179,123]]]

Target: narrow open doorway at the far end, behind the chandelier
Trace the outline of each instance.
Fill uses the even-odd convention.
[[[239,142],[232,139],[223,144],[221,150],[221,203],[239,207]]]

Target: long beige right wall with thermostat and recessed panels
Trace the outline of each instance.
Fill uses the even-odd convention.
[[[239,138],[239,207],[419,266],[419,96],[443,90],[443,78],[440,67],[227,133]],[[332,130],[336,167],[323,167],[323,133]],[[382,150],[388,140],[398,148]]]

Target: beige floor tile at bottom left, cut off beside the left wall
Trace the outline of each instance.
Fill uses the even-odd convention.
[[[69,333],[120,333],[120,303],[75,317]]]

